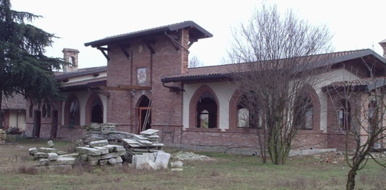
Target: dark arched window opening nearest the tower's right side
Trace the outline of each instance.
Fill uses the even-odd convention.
[[[203,93],[197,102],[197,124],[198,128],[217,127],[217,103],[213,95],[208,91]]]

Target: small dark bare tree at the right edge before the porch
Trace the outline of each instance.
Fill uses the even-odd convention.
[[[335,82],[326,87],[331,104],[337,111],[339,130],[346,137],[345,155],[351,168],[347,175],[347,189],[354,189],[356,173],[365,167],[369,159],[386,167],[386,160],[373,154],[384,146],[386,136],[385,87],[386,78],[373,75],[351,82]]]

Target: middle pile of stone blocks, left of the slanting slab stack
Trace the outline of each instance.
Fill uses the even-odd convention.
[[[76,148],[80,154],[80,160],[90,166],[122,165],[121,156],[126,155],[124,146],[109,144],[107,140],[90,142],[87,146]]]

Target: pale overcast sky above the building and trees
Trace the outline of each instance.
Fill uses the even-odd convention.
[[[84,43],[113,35],[165,26],[181,21],[194,21],[211,32],[213,37],[201,39],[190,48],[190,56],[198,57],[205,66],[218,65],[226,57],[230,44],[230,28],[247,21],[261,1],[125,1],[125,0],[10,0],[12,9],[26,11],[43,18],[33,25],[55,34],[50,57],[63,57],[63,48],[80,50],[79,66],[105,66],[107,60],[99,50]],[[370,48],[382,55],[378,42],[386,39],[386,1],[301,1],[268,0],[279,10],[294,10],[311,23],[326,24],[334,34],[336,51]]]

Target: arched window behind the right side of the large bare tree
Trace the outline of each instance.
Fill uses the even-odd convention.
[[[307,93],[302,93],[297,97],[294,111],[294,124],[297,129],[313,129],[313,102]]]

